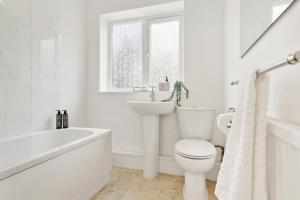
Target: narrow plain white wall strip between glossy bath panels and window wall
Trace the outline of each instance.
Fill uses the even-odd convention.
[[[62,1],[62,108],[71,126],[86,121],[86,1]]]

